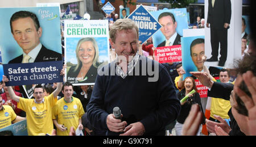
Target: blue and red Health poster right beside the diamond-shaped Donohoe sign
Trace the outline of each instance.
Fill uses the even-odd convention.
[[[152,37],[155,60],[160,63],[182,61],[180,39],[183,30],[188,28],[187,10],[159,10],[151,14],[162,26]]]

